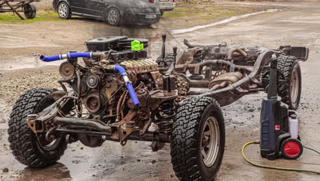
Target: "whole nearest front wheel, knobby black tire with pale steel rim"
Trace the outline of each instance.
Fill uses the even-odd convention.
[[[181,102],[171,138],[173,169],[179,180],[213,180],[224,156],[224,117],[215,99]]]

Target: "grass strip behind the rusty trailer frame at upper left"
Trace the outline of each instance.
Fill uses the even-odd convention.
[[[25,14],[20,13],[25,18]],[[21,23],[33,23],[36,21],[64,21],[59,18],[59,15],[54,11],[37,11],[36,18],[21,20],[16,14],[12,12],[5,12],[0,14],[0,22],[21,22]]]

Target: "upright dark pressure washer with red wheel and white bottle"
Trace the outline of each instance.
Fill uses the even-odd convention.
[[[278,97],[281,72],[277,69],[276,55],[271,58],[267,97],[263,99],[261,111],[261,156],[268,159],[296,159],[302,155],[299,141],[297,113]]]

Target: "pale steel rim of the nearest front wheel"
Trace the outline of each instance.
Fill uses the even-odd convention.
[[[206,167],[211,167],[219,152],[219,123],[215,117],[209,117],[204,123],[204,129],[201,134],[201,156]]]

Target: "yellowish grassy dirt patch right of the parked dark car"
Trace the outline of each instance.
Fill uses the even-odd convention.
[[[163,14],[158,27],[181,29],[198,25],[207,25],[230,16],[238,16],[267,9],[287,10],[285,5],[262,3],[233,3],[232,1],[180,1],[176,8]],[[174,21],[174,23],[170,23]],[[177,28],[178,25],[178,28]]]

